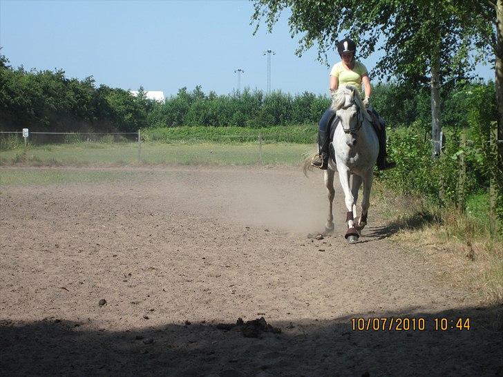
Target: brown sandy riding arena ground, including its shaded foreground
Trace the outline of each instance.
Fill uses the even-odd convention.
[[[339,185],[334,235],[307,238],[325,222],[319,172],[135,172],[2,188],[1,374],[503,375],[501,308],[439,283],[372,208],[346,244]],[[216,327],[261,316],[282,333]],[[426,331],[352,331],[354,317]],[[436,317],[471,329],[434,331]]]

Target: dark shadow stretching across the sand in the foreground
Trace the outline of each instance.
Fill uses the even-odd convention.
[[[272,322],[283,332],[261,338],[244,338],[216,323],[113,331],[94,322],[4,319],[0,371],[3,376],[503,375],[500,306],[438,313],[408,308],[386,317],[424,318],[425,331],[353,331],[352,317],[375,316]],[[446,318],[448,329],[435,331],[435,318]],[[470,329],[456,329],[457,318],[470,318]]]

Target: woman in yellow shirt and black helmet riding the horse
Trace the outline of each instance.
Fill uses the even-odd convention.
[[[365,85],[365,97],[363,104],[368,107],[370,104],[370,93],[372,93],[372,86],[370,86],[370,79],[368,77],[368,70],[363,64],[354,59],[354,54],[357,51],[357,45],[349,38],[345,38],[337,43],[337,50],[341,56],[342,61],[335,64],[330,71],[330,91],[337,90],[340,86],[352,85],[359,91],[361,95],[361,83]],[[375,110],[370,109],[375,119],[379,119],[379,115]],[[312,166],[326,170],[328,168],[328,160],[330,159],[329,144],[330,144],[330,123],[335,117],[335,110],[328,108],[321,117],[319,122],[318,131],[318,154],[315,155],[311,161]],[[372,117],[374,118],[374,117]],[[377,168],[384,170],[395,166],[394,162],[386,161],[386,127],[374,127],[379,139],[379,156],[377,157]]]

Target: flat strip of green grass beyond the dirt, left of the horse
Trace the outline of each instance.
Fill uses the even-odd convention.
[[[260,155],[261,149],[261,155]],[[30,146],[24,159],[23,151],[2,151],[1,164],[23,164],[32,166],[67,166],[86,164],[209,164],[209,165],[252,165],[282,164],[296,165],[303,154],[312,152],[309,144],[263,144],[257,143],[220,144],[166,144],[144,142],[138,160],[136,143],[75,143]]]

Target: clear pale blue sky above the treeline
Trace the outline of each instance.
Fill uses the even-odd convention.
[[[0,0],[1,53],[12,66],[61,68],[68,77],[93,76],[97,85],[163,90],[201,85],[208,93],[230,93],[234,70],[242,68],[241,88],[265,90],[272,49],[272,89],[327,93],[329,68],[314,48],[294,54],[283,17],[267,34],[253,36],[249,1],[5,1]],[[333,52],[329,60],[338,61]],[[371,69],[377,55],[363,60]],[[477,73],[493,79],[494,70]]]

